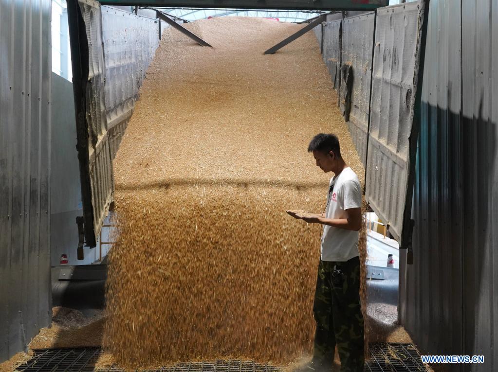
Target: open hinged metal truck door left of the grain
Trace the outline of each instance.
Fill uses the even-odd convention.
[[[97,1],[68,0],[67,4],[85,242],[95,247],[114,193],[105,105],[102,16]]]

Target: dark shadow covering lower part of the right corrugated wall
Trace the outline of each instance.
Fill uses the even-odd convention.
[[[484,117],[483,100],[484,93],[476,117],[422,102],[415,260],[400,281],[404,285],[406,280],[400,313],[426,354],[485,355],[491,361],[494,352],[486,345],[492,341],[486,340],[494,336],[484,324],[492,324],[494,312],[498,130],[497,123]]]

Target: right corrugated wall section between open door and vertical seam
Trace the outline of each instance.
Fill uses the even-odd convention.
[[[462,354],[461,13],[450,2],[430,2],[413,189],[413,265],[400,258],[400,321],[424,353],[437,355]]]

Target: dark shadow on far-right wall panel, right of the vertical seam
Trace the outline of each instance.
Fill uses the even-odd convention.
[[[489,346],[493,345],[494,335],[487,327],[493,324],[496,310],[493,279],[498,268],[493,264],[497,255],[493,241],[498,238],[494,236],[498,233],[495,185],[498,130],[497,123],[483,116],[483,101],[484,92],[481,92],[478,116],[462,120],[463,354],[485,355],[485,360],[491,363],[494,351]],[[484,341],[483,344],[479,345],[478,340]]]

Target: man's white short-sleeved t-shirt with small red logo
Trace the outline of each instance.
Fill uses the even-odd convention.
[[[362,206],[362,189],[358,176],[345,168],[330,180],[333,190],[327,193],[326,218],[347,218],[346,209]],[[324,225],[322,235],[322,261],[348,261],[359,256],[358,231]]]

